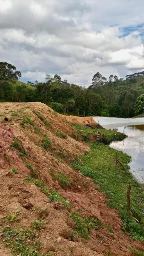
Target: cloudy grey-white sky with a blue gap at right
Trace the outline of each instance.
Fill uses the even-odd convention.
[[[143,70],[143,0],[0,0],[0,61],[23,82]]]

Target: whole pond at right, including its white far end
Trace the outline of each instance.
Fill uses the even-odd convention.
[[[97,119],[97,121],[95,120]],[[144,182],[144,119],[143,118],[94,118],[106,129],[128,135],[122,141],[110,143],[110,147],[131,156],[130,171],[139,181]],[[128,122],[126,122],[128,120]],[[121,122],[122,121],[122,122]],[[135,125],[133,125],[135,122]]]

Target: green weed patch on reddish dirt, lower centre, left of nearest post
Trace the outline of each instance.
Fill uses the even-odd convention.
[[[94,220],[89,217],[82,218],[77,212],[72,212],[71,217],[76,225],[75,231],[85,239],[89,239],[89,234],[91,233],[92,228],[101,226],[101,222],[99,220]]]

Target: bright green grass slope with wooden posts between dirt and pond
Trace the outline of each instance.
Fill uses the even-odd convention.
[[[119,161],[128,169],[128,162],[130,157],[121,151],[118,152]],[[143,223],[143,189],[142,185],[137,182],[130,172],[125,172],[121,165],[117,166],[115,171],[116,151],[108,145],[97,143],[91,145],[91,151],[86,151],[81,156],[81,161],[75,160],[72,167],[82,174],[89,176],[95,182],[100,184],[99,191],[104,192],[110,200],[107,201],[110,207],[116,208],[123,221],[125,222],[127,215],[127,189],[131,184],[131,205],[130,215],[133,215],[140,222],[140,225],[132,220],[131,228],[126,222],[125,232],[128,232],[133,238],[137,240],[142,239],[142,223]],[[121,205],[124,207],[122,208]],[[139,225],[139,229],[135,226]]]

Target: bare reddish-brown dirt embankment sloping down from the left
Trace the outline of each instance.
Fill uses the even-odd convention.
[[[5,123],[3,118],[11,111],[12,120]],[[71,137],[76,131],[65,116],[42,103],[0,103],[0,114],[0,255],[12,255],[9,245],[4,246],[3,228],[32,229],[40,218],[43,223],[34,239],[41,243],[39,254],[44,256],[100,256],[110,249],[111,255],[127,256],[134,255],[131,247],[142,249],[141,242],[122,232],[121,219],[115,209],[106,206],[104,193],[95,190],[90,178],[70,167],[76,156],[90,149]],[[45,150],[45,136],[50,140],[49,151]],[[70,185],[61,185],[56,178],[59,173],[70,180]],[[27,181],[29,174],[37,175],[50,191],[59,191],[70,207],[50,201],[40,186]],[[8,221],[7,216],[17,210],[18,222]],[[74,237],[77,227],[71,217],[73,211],[103,225],[92,229],[88,240]]]

